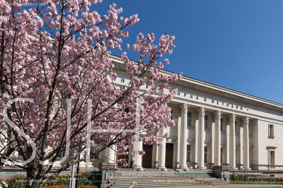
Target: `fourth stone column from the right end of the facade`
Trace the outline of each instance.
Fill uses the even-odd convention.
[[[198,111],[198,166],[197,168],[204,169],[204,114],[206,108],[199,107]]]

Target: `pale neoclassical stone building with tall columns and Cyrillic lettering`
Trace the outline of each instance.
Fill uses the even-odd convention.
[[[114,84],[127,83],[122,68],[117,75]],[[169,133],[162,146],[140,143],[145,155],[137,159],[126,156],[129,167],[283,169],[282,104],[186,76],[170,87],[178,89],[168,103],[176,126],[161,130],[161,134]],[[113,160],[124,158],[111,151],[104,154]],[[94,165],[98,162],[93,160]]]

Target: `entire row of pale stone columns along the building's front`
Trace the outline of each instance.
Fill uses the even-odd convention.
[[[186,158],[187,158],[187,113],[189,104],[181,104],[181,134],[180,134],[180,158],[179,158],[179,168],[186,169]],[[197,148],[197,168],[204,169],[204,142],[205,142],[205,111],[206,108],[199,107],[197,108],[198,112],[198,148]],[[215,122],[215,131],[214,131],[214,166],[220,166],[220,156],[221,156],[221,114],[222,111],[216,110],[213,112],[214,114],[214,122]],[[236,142],[235,142],[235,119],[237,114],[228,114],[229,123],[230,123],[230,135],[229,135],[229,165],[231,169],[236,169]],[[245,170],[249,168],[249,117],[241,118],[243,121],[243,168]],[[165,134],[166,129],[164,127],[161,128],[160,134]],[[165,150],[166,150],[166,138],[163,138],[160,142],[163,144],[158,146],[158,160],[157,160],[157,168],[165,168]],[[142,150],[142,142],[139,142],[137,146],[135,146],[135,150]],[[114,161],[114,150],[111,148],[106,149],[106,156],[110,159],[110,162]],[[134,157],[134,168],[142,167],[142,160],[140,155],[136,155]]]

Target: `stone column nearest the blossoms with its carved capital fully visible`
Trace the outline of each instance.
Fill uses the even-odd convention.
[[[187,166],[187,113],[189,105],[183,103],[181,108],[181,136],[180,136],[180,165],[179,168],[188,168]]]

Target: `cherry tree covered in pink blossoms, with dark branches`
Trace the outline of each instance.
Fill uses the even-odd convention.
[[[164,64],[169,64],[162,55],[172,53],[174,36],[165,33],[155,45],[154,34],[140,33],[132,45],[138,54],[137,62],[133,62],[125,52],[130,45],[122,47],[121,38],[128,36],[126,29],[139,21],[138,15],[124,18],[122,8],[117,9],[113,3],[101,16],[91,8],[96,3],[98,0],[0,1],[0,165],[6,160],[6,165],[14,162],[14,166],[26,170],[27,188],[42,187],[42,180],[85,161],[89,99],[91,129],[135,129],[139,99],[143,99],[138,122],[140,140],[160,144],[158,141],[168,137],[157,134],[160,128],[175,126],[166,103],[177,92],[169,83],[180,79],[181,74],[161,73]],[[112,61],[114,50],[121,50],[122,63]],[[114,84],[118,67],[129,77],[123,86]],[[69,146],[68,99],[72,99]],[[128,113],[126,108],[130,109]],[[15,126],[7,123],[7,118]],[[92,156],[109,146],[115,146],[119,155],[127,154],[135,133],[94,132],[90,138],[93,148],[100,146]],[[52,162],[67,146],[69,158],[60,169],[52,169]],[[21,165],[10,157],[14,151],[24,161],[31,161]],[[79,154],[84,157],[75,160]],[[119,164],[127,166],[125,160],[119,160]]]

